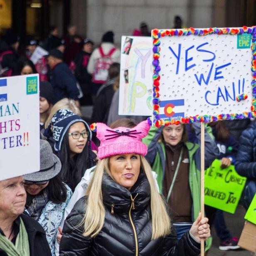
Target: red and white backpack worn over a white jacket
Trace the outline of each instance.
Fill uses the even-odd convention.
[[[108,54],[104,54],[102,47],[98,49],[101,57],[96,60],[92,81],[97,84],[103,84],[108,78],[108,68],[113,63],[111,56],[116,51],[116,48],[113,47]]]

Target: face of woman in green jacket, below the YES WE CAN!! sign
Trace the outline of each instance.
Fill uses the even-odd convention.
[[[170,124],[169,126],[165,126],[162,130],[165,142],[172,146],[176,146],[182,139],[183,130],[184,128],[182,124]]]

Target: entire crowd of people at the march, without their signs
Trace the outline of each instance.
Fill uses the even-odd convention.
[[[181,27],[175,17],[175,27]],[[135,35],[148,36],[140,24]],[[33,63],[37,45],[48,54]],[[114,34],[101,44],[76,26],[57,27],[38,44],[7,31],[0,76],[39,74],[40,170],[0,181],[0,255],[195,256],[211,246],[238,249],[221,210],[200,212],[198,123],[150,126],[144,116],[118,116],[121,51]],[[81,106],[93,105],[91,118]],[[215,159],[247,177],[241,204],[256,193],[256,123],[205,124],[205,167]],[[238,144],[238,141],[239,144]]]

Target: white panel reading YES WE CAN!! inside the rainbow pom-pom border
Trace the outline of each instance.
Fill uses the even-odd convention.
[[[160,42],[160,118],[251,111],[252,54],[238,35],[166,36]]]

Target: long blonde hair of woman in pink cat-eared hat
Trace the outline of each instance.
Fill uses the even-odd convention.
[[[96,236],[101,231],[104,224],[105,207],[103,205],[101,184],[104,172],[107,172],[108,175],[111,176],[108,162],[109,158],[98,161],[98,165],[86,191],[86,195],[88,196],[86,200],[86,210],[84,219],[81,222],[81,224],[84,225],[84,236]],[[171,222],[166,205],[155,185],[149,163],[143,156],[140,156],[140,163],[150,185],[150,208],[152,216],[151,239],[165,237],[167,234],[170,234],[171,230]]]

